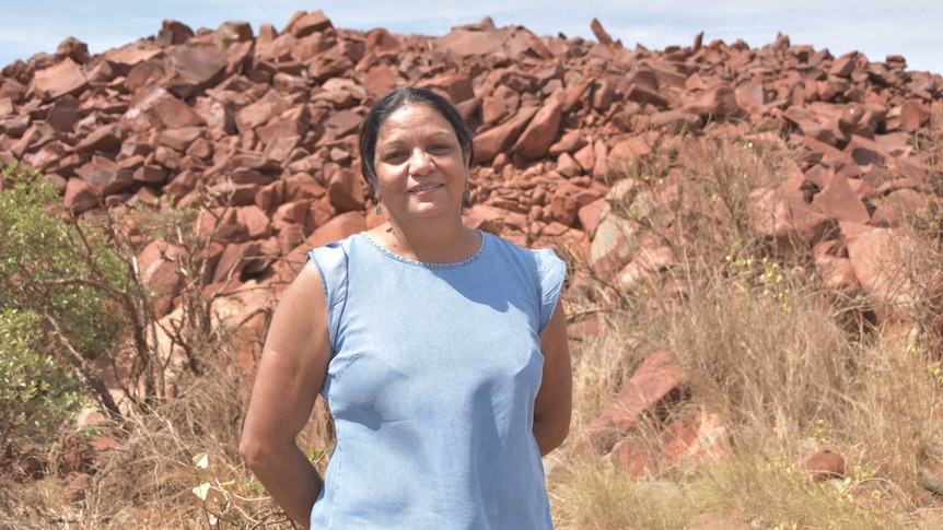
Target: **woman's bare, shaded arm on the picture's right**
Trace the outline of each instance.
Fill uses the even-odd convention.
[[[544,354],[544,379],[534,403],[534,437],[544,456],[567,438],[573,408],[573,372],[567,342],[567,315],[561,302],[557,303],[550,322],[540,332],[540,353]]]

